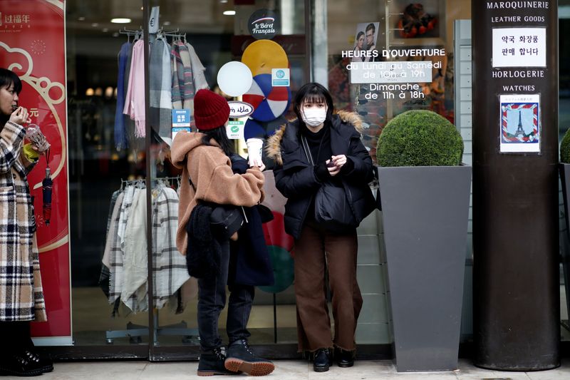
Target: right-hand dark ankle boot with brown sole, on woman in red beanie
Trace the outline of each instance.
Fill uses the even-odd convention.
[[[275,369],[271,361],[255,356],[246,339],[228,346],[225,366],[229,371],[242,371],[252,376],[269,375]]]

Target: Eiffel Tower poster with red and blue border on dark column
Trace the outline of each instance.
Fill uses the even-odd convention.
[[[540,152],[540,95],[501,95],[501,152]]]

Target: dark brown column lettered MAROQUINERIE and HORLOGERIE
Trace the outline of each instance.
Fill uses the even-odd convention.
[[[475,365],[488,369],[559,366],[557,8],[472,0]],[[546,50],[545,66],[519,66],[532,61],[524,56],[493,67],[492,46],[504,42],[493,29],[503,28],[545,28],[544,43],[530,42]],[[540,96],[539,153],[500,153],[499,96],[513,94]]]

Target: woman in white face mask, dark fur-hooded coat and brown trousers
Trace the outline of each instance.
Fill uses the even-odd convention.
[[[267,153],[276,162],[276,188],[287,197],[285,230],[295,240],[295,295],[299,351],[311,353],[314,371],[354,364],[354,333],[362,297],[356,281],[356,228],[331,232],[314,219],[315,193],[323,183],[345,185],[353,196],[370,192],[373,163],[356,113],[333,114],[333,101],[318,83],[302,86],[293,120],[271,136]],[[348,191],[347,190],[347,191]],[[338,200],[339,202],[344,200]],[[363,202],[359,202],[363,203]],[[332,294],[334,336],[328,317],[325,274]]]

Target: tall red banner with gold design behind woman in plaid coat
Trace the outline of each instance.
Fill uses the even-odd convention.
[[[71,344],[65,41],[64,1],[0,1],[0,67],[20,77],[19,104],[51,144],[49,162],[41,156],[28,176],[48,312],[48,322],[32,323],[36,344]],[[53,178],[49,221],[42,200],[46,165]]]

